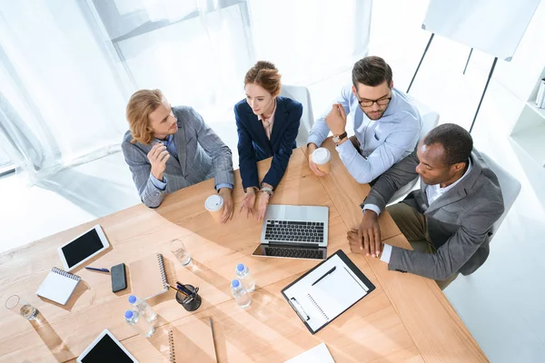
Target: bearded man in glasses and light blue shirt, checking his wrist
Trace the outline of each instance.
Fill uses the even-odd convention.
[[[354,127],[350,138],[348,118]],[[311,154],[331,131],[335,149],[356,182],[373,182],[414,151],[421,127],[416,106],[393,88],[390,65],[379,56],[362,58],[352,68],[352,88],[344,87],[331,111],[312,126],[309,166],[314,174],[325,175],[312,162]]]

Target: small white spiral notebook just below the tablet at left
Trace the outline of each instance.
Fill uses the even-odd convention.
[[[66,305],[81,280],[73,273],[54,267],[36,291],[36,295]]]

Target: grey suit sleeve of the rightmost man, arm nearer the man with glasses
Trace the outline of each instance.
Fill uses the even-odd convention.
[[[346,143],[346,142],[344,142]],[[369,195],[360,205],[365,208],[365,205],[376,205],[380,211],[386,208],[386,204],[396,191],[399,191],[402,186],[411,182],[418,177],[416,166],[419,164],[416,151],[406,156],[401,162],[393,164],[390,169],[383,172],[381,177],[371,188]]]

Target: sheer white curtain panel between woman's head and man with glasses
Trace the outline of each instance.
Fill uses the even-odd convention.
[[[284,83],[318,82],[367,55],[372,0],[248,3],[255,54],[272,60]]]

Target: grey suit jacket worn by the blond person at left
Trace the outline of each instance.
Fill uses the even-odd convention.
[[[178,160],[172,155],[166,162],[164,176],[166,189],[161,191],[150,180],[152,164],[147,153],[152,145],[140,142],[131,143],[132,135],[124,134],[121,148],[124,159],[133,173],[133,181],[140,194],[140,199],[151,208],[156,208],[163,201],[166,193],[177,191],[197,182],[214,178],[215,185],[233,182],[233,159],[231,150],[222,142],[213,130],[203,122],[203,117],[192,107],[173,107],[178,119],[178,131],[174,134],[174,145]]]

